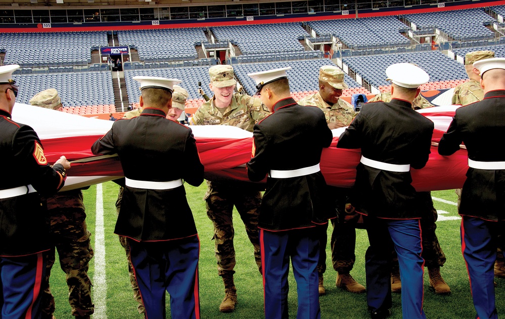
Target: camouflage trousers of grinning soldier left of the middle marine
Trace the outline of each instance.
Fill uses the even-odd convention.
[[[254,246],[254,258],[261,272],[261,254],[259,252],[258,213],[261,194],[258,191],[233,187],[216,186],[207,182],[207,193],[204,200],[207,205],[207,216],[214,225],[215,253],[217,272],[220,276],[234,274],[235,248],[233,238],[233,207],[237,208],[240,218],[246,226],[249,240]]]

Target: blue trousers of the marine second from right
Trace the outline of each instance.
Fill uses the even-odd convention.
[[[366,300],[370,310],[391,307],[391,252],[400,264],[401,308],[404,318],[426,318],[423,310],[424,260],[421,257],[421,226],[419,219],[367,220],[370,247],[366,250]]]

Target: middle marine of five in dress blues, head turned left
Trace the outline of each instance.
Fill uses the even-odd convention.
[[[262,102],[273,113],[254,126],[251,181],[268,175],[258,228],[263,269],[265,317],[288,317],[291,259],[298,292],[298,318],[319,318],[316,224],[328,223],[326,182],[320,156],[332,132],[317,107],[298,105],[290,96],[286,70],[249,74]]]

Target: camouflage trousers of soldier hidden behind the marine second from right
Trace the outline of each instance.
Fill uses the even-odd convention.
[[[445,254],[440,247],[438,237],[435,233],[437,229],[437,224],[435,222],[438,219],[438,213],[433,207],[431,192],[423,191],[418,192],[418,194],[423,198],[423,201],[431,207],[431,211],[421,218],[421,244],[423,246],[423,253],[421,256],[425,260],[426,267],[442,267],[445,263]],[[396,252],[394,252],[393,256],[393,267],[398,267]]]

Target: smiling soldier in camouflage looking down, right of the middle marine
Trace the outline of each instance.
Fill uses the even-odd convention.
[[[356,113],[351,104],[340,98],[342,90],[347,89],[344,83],[344,72],[336,66],[324,65],[319,69],[319,91],[313,95],[306,96],[298,101],[300,105],[317,106],[326,115],[326,123],[330,129],[348,126]],[[335,196],[335,208],[339,212],[345,212],[347,201],[347,189],[328,186],[329,193]],[[356,229],[354,225],[344,222],[345,213],[340,214],[335,221],[332,219],[333,232],[331,237],[332,264],[337,271],[335,284],[349,292],[362,293],[365,291],[363,285],[357,283],[351,276],[350,271],[354,265],[356,256],[354,250],[356,246]],[[319,294],[326,292],[323,284],[323,274],[326,271],[326,244],[328,242],[328,224],[319,226],[319,262],[317,272],[319,274]]]

